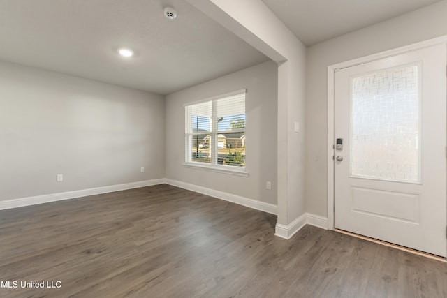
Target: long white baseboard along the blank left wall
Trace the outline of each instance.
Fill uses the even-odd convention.
[[[69,200],[74,198],[86,197],[87,195],[99,195],[101,193],[112,193],[113,191],[124,191],[131,188],[139,188],[152,186],[156,184],[164,184],[166,179],[153,179],[146,181],[131,182],[126,184],[117,184],[112,186],[101,186],[95,188],[81,189],[79,191],[67,191],[64,193],[51,193],[49,195],[36,195],[34,197],[18,198],[12,200],[0,201],[0,210],[24,207],[34,204],[43,204],[47,202],[55,202],[61,200]]]

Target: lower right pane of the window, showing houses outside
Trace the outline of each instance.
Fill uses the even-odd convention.
[[[245,166],[245,133],[217,135],[217,163],[236,167]]]

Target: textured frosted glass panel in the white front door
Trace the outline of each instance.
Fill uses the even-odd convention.
[[[351,177],[420,181],[418,65],[351,78]]]

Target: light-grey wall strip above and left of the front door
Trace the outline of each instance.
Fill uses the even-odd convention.
[[[447,34],[447,1],[307,49],[306,209],[327,216],[328,66]]]

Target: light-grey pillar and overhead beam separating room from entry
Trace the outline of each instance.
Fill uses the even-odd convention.
[[[306,211],[306,48],[262,1],[187,1],[279,64],[276,233],[291,237],[300,225],[296,220]],[[293,131],[295,121],[300,123],[300,133]]]

